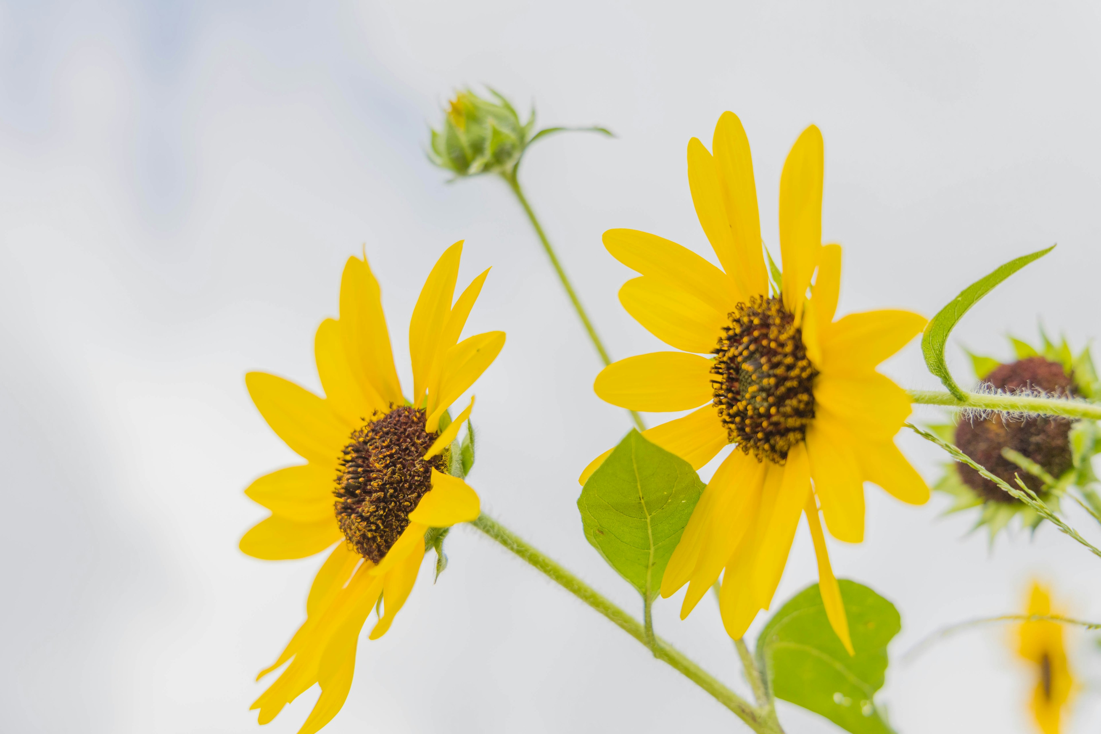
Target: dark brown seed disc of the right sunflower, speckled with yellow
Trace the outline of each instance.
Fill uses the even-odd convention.
[[[814,420],[818,371],[780,298],[754,296],[729,319],[713,350],[713,405],[732,443],[782,464]]]

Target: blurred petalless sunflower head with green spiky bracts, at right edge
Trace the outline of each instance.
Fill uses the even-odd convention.
[[[1097,394],[1088,349],[1073,358],[1066,340],[1056,346],[1044,336],[1039,350],[1018,339],[1011,341],[1016,357],[1012,361],[971,354],[980,390],[1055,396]],[[1097,452],[1097,426],[1090,420],[995,414],[934,429],[1011,486],[1016,486],[1020,478],[1053,508],[1069,487],[1087,489],[1097,481],[1090,464]],[[1014,517],[1033,529],[1042,521],[1035,511],[961,463],[946,464],[945,475],[934,489],[956,499],[949,512],[982,507],[975,527],[985,525],[991,540]]]

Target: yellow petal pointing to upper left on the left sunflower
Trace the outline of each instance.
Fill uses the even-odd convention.
[[[337,465],[351,431],[325,401],[264,372],[248,373],[244,384],[260,415],[295,453],[323,467]]]

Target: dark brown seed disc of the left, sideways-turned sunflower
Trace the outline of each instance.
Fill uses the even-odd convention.
[[[375,563],[408,527],[410,513],[432,489],[432,470],[444,471],[443,456],[423,459],[436,440],[424,427],[424,410],[391,406],[352,431],[344,448],[333,491],[337,523],[349,545]]]

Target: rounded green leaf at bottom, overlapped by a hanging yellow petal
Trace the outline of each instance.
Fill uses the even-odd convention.
[[[776,698],[853,734],[891,734],[875,691],[887,669],[887,643],[902,629],[898,612],[868,587],[847,579],[838,583],[855,655],[830,627],[816,583],[768,620],[757,637],[757,661]]]

